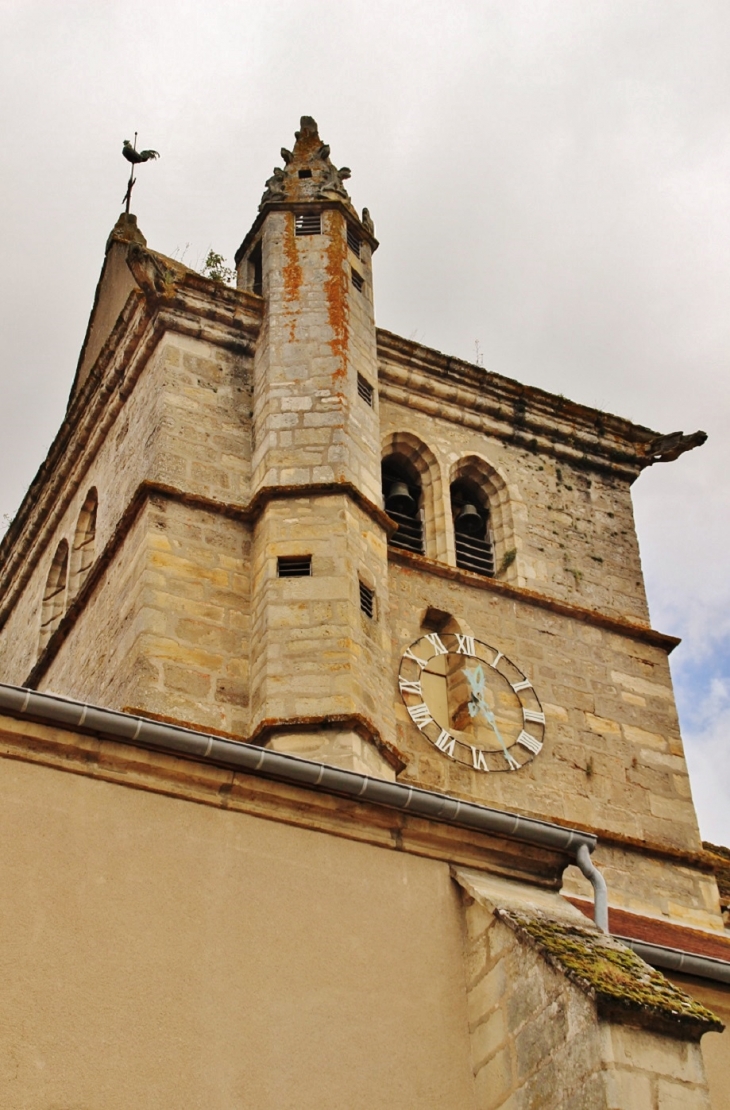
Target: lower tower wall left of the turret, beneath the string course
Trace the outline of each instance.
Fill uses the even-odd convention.
[[[152,498],[40,688],[245,736],[249,564],[247,526]]]

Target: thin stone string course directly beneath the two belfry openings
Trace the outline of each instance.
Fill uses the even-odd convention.
[[[526,589],[524,586],[511,586],[497,578],[487,578],[473,571],[464,571],[460,567],[449,566],[447,563],[437,563],[436,559],[427,558],[425,555],[415,555],[399,547],[388,547],[388,559],[392,563],[401,563],[403,566],[412,567],[424,574],[434,574],[440,578],[450,578],[454,582],[464,583],[465,586],[475,586],[477,589],[486,589],[495,594],[501,594],[525,605],[534,605],[537,608],[549,609],[550,613],[558,613],[560,616],[569,617],[571,620],[581,620],[584,624],[596,625],[614,632],[619,636],[639,640],[642,644],[651,644],[659,647],[668,655],[677,647],[681,640],[677,636],[667,636],[665,633],[656,632],[648,625],[636,624],[632,620],[623,620],[620,617],[611,617],[597,609],[586,609],[580,605],[571,605],[570,602],[560,602],[557,598],[538,594],[534,589]]]

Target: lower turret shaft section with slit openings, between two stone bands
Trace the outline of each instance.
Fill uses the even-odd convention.
[[[312,576],[280,578],[280,556],[311,555]],[[389,637],[385,536],[346,495],[271,502],[255,525],[252,726],[359,714],[387,740]],[[359,581],[375,591],[361,610]]]

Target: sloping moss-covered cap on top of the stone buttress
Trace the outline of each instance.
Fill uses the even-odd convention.
[[[724,1027],[719,1018],[620,941],[541,914],[497,916],[596,1001],[601,1017],[685,1040]]]

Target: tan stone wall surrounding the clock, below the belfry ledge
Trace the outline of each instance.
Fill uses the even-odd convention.
[[[697,818],[663,650],[391,563],[392,690],[405,776],[500,809],[699,850]],[[479,774],[442,755],[398,697],[403,652],[433,606],[499,648],[527,675],[546,714],[545,747],[516,773]]]

